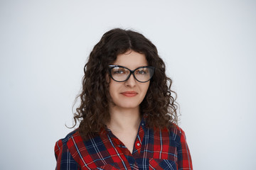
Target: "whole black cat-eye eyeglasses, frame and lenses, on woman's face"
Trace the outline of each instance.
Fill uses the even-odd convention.
[[[109,65],[110,77],[117,82],[127,81],[131,74],[133,74],[134,78],[141,82],[145,83],[149,81],[154,74],[154,67],[151,66],[143,66],[138,67],[137,69],[131,70],[127,67],[119,66],[119,65]]]

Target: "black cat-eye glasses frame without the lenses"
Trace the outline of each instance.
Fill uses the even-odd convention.
[[[120,66],[120,65],[109,65],[109,72],[110,72],[110,77],[111,79],[113,79],[114,81],[117,81],[115,80],[113,77],[112,77],[112,74],[111,74],[111,71],[114,67],[122,67],[124,69],[128,69],[127,67],[124,67],[124,66]],[[142,67],[138,67],[137,69],[142,69],[142,68],[149,68],[152,70],[152,74],[151,74],[151,77],[149,78],[149,80],[153,77],[154,75],[154,69],[155,67],[152,67],[152,66],[142,66]],[[134,75],[134,72],[137,70],[137,69],[134,69],[134,70],[131,70],[131,69],[128,69],[129,70],[129,75],[127,77],[127,79],[129,79],[129,77],[131,77],[131,74],[134,76],[134,79],[136,79],[137,81],[139,81],[136,76]],[[124,81],[127,81],[127,79],[123,80],[123,81],[117,81],[117,82],[124,82]],[[147,80],[147,81],[149,81]],[[141,83],[146,83],[147,81],[139,81]]]

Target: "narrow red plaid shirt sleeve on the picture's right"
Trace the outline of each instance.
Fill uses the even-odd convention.
[[[183,169],[188,169],[192,170],[192,160],[191,160],[191,154],[188,149],[188,144],[186,142],[186,135],[181,128],[179,128],[179,135],[180,137],[177,137],[176,140],[179,141],[177,142],[177,154],[178,154],[178,170],[183,170]]]

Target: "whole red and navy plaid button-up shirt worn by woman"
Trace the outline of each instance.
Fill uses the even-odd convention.
[[[183,130],[149,129],[144,120],[132,153],[110,130],[86,141],[75,130],[56,142],[55,157],[56,170],[193,169]]]

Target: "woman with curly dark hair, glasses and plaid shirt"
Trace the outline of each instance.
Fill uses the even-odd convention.
[[[56,169],[193,169],[171,79],[144,35],[108,31],[84,72],[80,125],[56,142]]]

